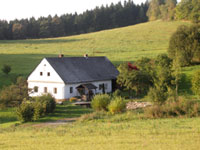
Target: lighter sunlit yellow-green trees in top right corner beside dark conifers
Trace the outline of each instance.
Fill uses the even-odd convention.
[[[147,16],[150,21],[162,20],[190,20],[200,22],[199,0],[150,0]]]

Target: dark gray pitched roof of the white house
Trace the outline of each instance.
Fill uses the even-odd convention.
[[[46,58],[65,83],[116,79],[119,72],[107,57]]]

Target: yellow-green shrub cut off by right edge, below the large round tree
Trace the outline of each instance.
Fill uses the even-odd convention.
[[[192,78],[192,91],[200,97],[200,70]]]

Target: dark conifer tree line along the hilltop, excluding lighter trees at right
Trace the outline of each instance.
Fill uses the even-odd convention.
[[[136,5],[132,0],[87,10],[82,14],[0,20],[0,40],[48,38],[89,33],[148,21],[148,2]]]

